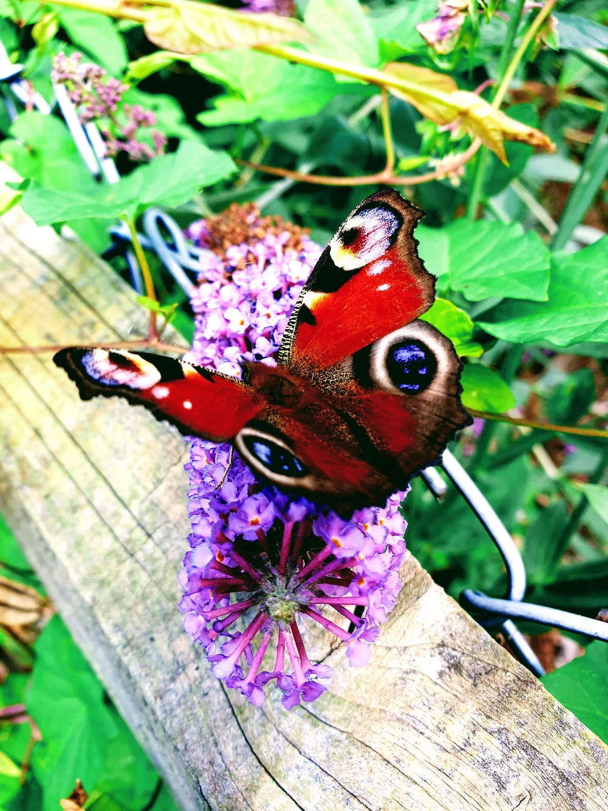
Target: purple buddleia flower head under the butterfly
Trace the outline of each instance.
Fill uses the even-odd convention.
[[[203,221],[189,235],[208,245]],[[306,236],[301,250],[284,250],[288,238],[266,234],[228,247],[225,259],[203,260],[192,300],[192,361],[233,375],[241,358],[275,363],[293,304],[321,251]],[[405,493],[346,521],[264,487],[228,444],[194,440],[186,470],[192,533],[179,575],[180,610],[212,672],[257,706],[272,681],[286,709],[315,701],[332,669],[310,662],[302,621],[344,642],[351,665],[366,664],[401,586]],[[241,630],[234,629],[238,620]]]

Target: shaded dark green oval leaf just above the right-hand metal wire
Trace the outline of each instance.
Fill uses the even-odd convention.
[[[522,557],[530,582],[543,583],[552,579],[563,556],[563,548],[558,544],[567,517],[566,505],[559,500],[542,509],[529,526]]]

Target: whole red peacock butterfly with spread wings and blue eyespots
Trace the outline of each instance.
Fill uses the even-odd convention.
[[[349,517],[384,504],[470,423],[451,341],[417,320],[435,277],[423,212],[395,190],[349,214],[293,309],[276,367],[242,380],[150,353],[71,347],[54,362],[80,397],[118,395],[186,435],[232,441],[260,477]]]

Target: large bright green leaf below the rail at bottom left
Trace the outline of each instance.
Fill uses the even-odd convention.
[[[43,789],[43,811],[56,811],[76,778],[95,786],[117,729],[103,687],[57,615],[34,649],[36,666],[26,706],[43,740],[32,753],[32,769]]]

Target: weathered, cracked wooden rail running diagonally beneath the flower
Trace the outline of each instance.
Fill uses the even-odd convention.
[[[0,220],[0,285],[0,345],[145,330],[111,269],[19,209]],[[308,644],[334,668],[330,692],[256,708],[182,632],[177,431],[122,401],[82,403],[50,354],[0,356],[0,425],[0,511],[183,809],[608,808],[606,745],[412,556],[367,667],[319,629]]]

